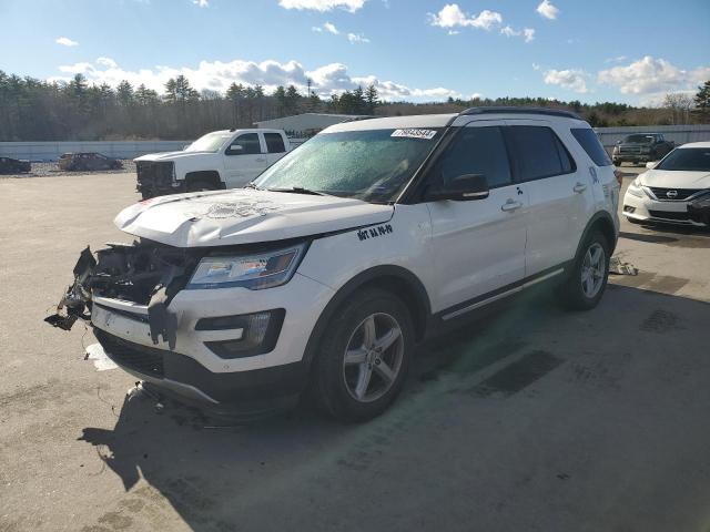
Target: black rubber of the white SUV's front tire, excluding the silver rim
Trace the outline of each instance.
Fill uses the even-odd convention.
[[[348,382],[352,371],[348,377],[348,369],[346,368],[355,371],[362,371],[363,369],[359,366],[346,366],[345,354],[348,347],[352,347],[353,341],[357,342],[356,335],[361,330],[359,327],[373,315],[379,316],[377,319],[385,319],[388,324],[392,324],[392,321],[388,321],[389,318],[394,319],[400,330],[402,344],[393,344],[382,351],[381,361],[376,358],[373,364],[367,365],[364,362],[371,368],[371,375],[375,376],[372,377],[375,380],[368,381],[369,383],[366,385],[366,391],[369,389],[367,388],[368,386],[375,388],[376,391],[381,379],[382,383],[379,386],[383,391],[381,391],[382,395],[379,397],[373,393],[375,398],[372,400],[366,400],[366,397],[363,400],[358,400],[354,397],[354,391],[352,390],[353,382]],[[381,327],[382,329],[385,328]],[[414,351],[414,330],[406,306],[386,290],[367,288],[355,294],[338,308],[325,330],[326,332],[318,346],[312,382],[318,407],[341,421],[366,421],[379,416],[402,391]],[[378,368],[389,369],[387,364],[393,367],[396,366],[393,364],[393,358],[389,358],[387,362],[385,361],[386,357],[393,357],[395,350],[400,354],[398,369],[396,377],[389,381],[390,383],[387,383],[379,376]],[[388,388],[386,388],[387,386]]]

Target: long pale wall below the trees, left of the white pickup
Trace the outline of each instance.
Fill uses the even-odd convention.
[[[0,156],[57,161],[62,153],[97,152],[109,157],[134,158],[146,153],[175,152],[192,141],[0,142]]]

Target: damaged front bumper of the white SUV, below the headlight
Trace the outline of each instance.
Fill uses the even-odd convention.
[[[187,400],[233,407],[252,399],[297,396],[303,390],[306,345],[332,296],[331,288],[298,273],[287,284],[264,290],[183,289],[168,307],[176,317],[173,349],[165,341],[153,342],[145,306],[94,297],[91,323],[106,354],[132,375]],[[243,331],[197,327],[203,318],[276,308],[284,309],[283,323],[268,352],[223,358],[209,346],[240,338]]]

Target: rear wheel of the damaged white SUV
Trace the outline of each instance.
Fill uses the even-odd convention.
[[[595,260],[599,252],[602,255]],[[581,246],[569,278],[560,287],[562,304],[568,309],[590,310],[599,304],[609,278],[609,258],[607,238],[599,231],[591,232]]]

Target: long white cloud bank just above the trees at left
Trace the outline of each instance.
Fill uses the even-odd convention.
[[[197,91],[210,90],[225,92],[231,83],[246,85],[263,85],[266,92],[272,92],[278,85],[293,84],[305,93],[307,79],[313,80],[314,90],[322,96],[356,89],[358,85],[375,85],[383,100],[446,100],[460,98],[460,93],[446,88],[409,88],[403,83],[384,81],[375,75],[351,75],[342,63],[331,63],[307,71],[300,62],[288,61],[201,61],[191,69],[189,66],[172,68],[156,66],[154,69],[124,70],[110,58],[99,58],[93,63],[79,62],[60,66],[64,74],[83,74],[90,83],[108,83],[116,86],[122,80],[133,86],[141,83],[159,93],[164,92],[165,82],[180,74],[187,78],[190,84]],[[69,81],[68,76],[54,78],[55,81]]]

